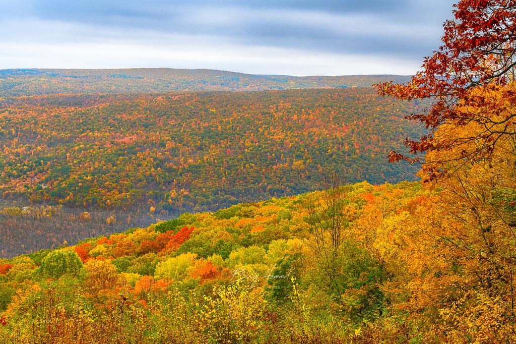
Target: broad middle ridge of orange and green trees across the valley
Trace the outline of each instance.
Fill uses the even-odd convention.
[[[4,198],[205,211],[343,182],[413,180],[385,157],[417,104],[370,89],[55,96],[0,110]]]

